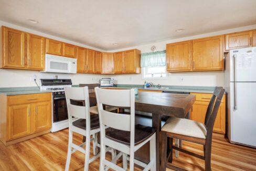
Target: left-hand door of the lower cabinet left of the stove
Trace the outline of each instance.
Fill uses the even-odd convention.
[[[30,134],[30,104],[9,106],[7,117],[8,140]]]

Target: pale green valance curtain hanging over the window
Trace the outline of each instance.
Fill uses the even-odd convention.
[[[166,50],[141,54],[141,67],[166,66]]]

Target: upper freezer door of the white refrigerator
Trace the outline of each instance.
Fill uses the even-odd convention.
[[[229,58],[231,81],[256,82],[256,47],[232,50]]]

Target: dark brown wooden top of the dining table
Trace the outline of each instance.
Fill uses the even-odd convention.
[[[90,93],[95,98],[95,93]],[[135,110],[184,118],[196,100],[192,94],[138,92]]]

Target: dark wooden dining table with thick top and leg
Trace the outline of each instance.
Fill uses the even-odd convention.
[[[90,103],[95,103],[95,93],[90,93]],[[156,168],[161,164],[161,121],[162,116],[184,118],[195,102],[192,94],[138,92],[135,95],[135,111],[152,113],[152,126],[156,129]]]

